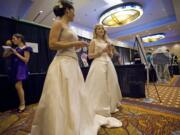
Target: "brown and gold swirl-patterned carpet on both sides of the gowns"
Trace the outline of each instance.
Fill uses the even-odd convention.
[[[13,111],[1,113],[0,135],[28,135],[35,109],[36,105],[31,105],[21,114]],[[167,113],[163,110],[155,111],[138,105],[130,105],[124,101],[120,111],[113,116],[121,120],[123,126],[112,129],[101,128],[98,135],[180,134],[180,110],[178,113]]]

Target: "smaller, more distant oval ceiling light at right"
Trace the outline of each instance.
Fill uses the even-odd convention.
[[[145,43],[150,43],[150,42],[158,41],[158,40],[163,39],[163,38],[165,38],[165,34],[164,33],[158,33],[158,34],[153,34],[153,35],[148,35],[148,36],[142,37],[142,40]]]

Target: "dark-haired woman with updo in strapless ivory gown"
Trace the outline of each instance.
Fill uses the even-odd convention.
[[[50,31],[49,47],[57,54],[46,75],[31,135],[96,135],[100,125],[94,124],[94,115],[86,104],[84,79],[75,52],[87,43],[78,41],[68,26],[74,18],[70,3],[60,2],[54,13],[57,20]]]

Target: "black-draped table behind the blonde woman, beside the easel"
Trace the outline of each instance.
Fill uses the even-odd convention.
[[[143,64],[115,66],[123,97],[145,97],[146,72]],[[86,79],[89,68],[82,68]]]

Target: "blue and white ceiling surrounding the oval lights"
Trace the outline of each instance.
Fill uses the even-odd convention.
[[[29,5],[27,1],[26,3],[24,2],[25,0],[10,1],[3,1],[0,8],[8,6],[13,6],[13,8],[9,8],[11,10],[8,13],[1,13],[0,15],[20,17],[32,21],[39,11],[43,10],[43,14],[40,14],[35,22],[49,27],[52,25],[53,18],[55,17],[52,13],[52,8],[57,3],[57,0],[27,0]],[[92,31],[94,25],[99,22],[100,14],[111,7],[104,0],[72,1],[76,11],[73,24],[89,31]],[[180,20],[180,0],[123,0],[123,2],[140,3],[143,6],[144,14],[139,20],[126,26],[107,28],[111,38],[130,44],[137,34],[145,36],[163,32],[166,34],[166,38],[161,41],[161,44],[180,41],[180,27],[178,23]],[[22,8],[25,4],[27,8]],[[159,43],[156,42],[154,45]]]

